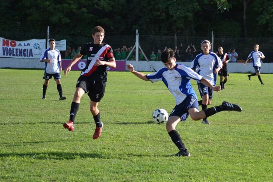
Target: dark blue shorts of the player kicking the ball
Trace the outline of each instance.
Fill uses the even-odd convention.
[[[192,95],[187,96],[182,103],[176,105],[173,111],[170,113],[170,116],[178,116],[181,118],[182,121],[186,121],[187,117],[189,116],[188,110],[190,108],[196,108],[197,110],[199,110],[198,101]]]

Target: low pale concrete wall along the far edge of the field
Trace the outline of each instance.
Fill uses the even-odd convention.
[[[134,68],[137,68],[136,61],[126,61],[127,64],[132,64]],[[190,62],[179,62],[190,66]],[[138,62],[138,70],[139,71],[147,71],[152,72],[162,68],[164,64],[162,62],[153,62],[153,61],[139,61]],[[19,58],[0,58],[0,68],[36,68],[36,69],[44,69],[45,63],[40,62],[39,59],[19,59]],[[64,68],[63,68],[64,69]],[[228,71],[230,73],[238,72],[238,73],[246,73],[246,72],[254,72],[253,64],[247,63],[244,66],[244,63],[228,63]],[[261,65],[261,73],[273,73],[273,63],[262,63]]]

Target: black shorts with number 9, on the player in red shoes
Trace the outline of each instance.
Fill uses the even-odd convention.
[[[82,88],[85,93],[88,92],[87,95],[91,101],[99,102],[104,96],[106,82],[91,80],[88,76],[80,76],[77,81],[77,87]]]

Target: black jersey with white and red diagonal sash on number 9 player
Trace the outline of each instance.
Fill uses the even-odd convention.
[[[106,43],[94,44],[93,42],[86,43],[80,54],[87,55],[86,67],[82,70],[81,76],[88,76],[91,80],[107,81],[107,66],[94,66],[97,60],[108,61],[113,58],[113,49]]]

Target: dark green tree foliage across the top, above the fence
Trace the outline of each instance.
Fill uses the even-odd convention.
[[[25,30],[90,36],[101,25],[113,34],[215,34],[243,36],[273,33],[273,2],[248,0],[5,0],[0,1],[2,34]],[[244,24],[245,21],[245,24]],[[16,33],[15,33],[16,34]],[[22,35],[23,36],[23,35]]]

